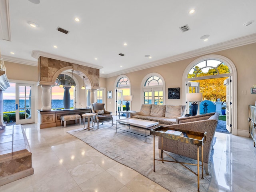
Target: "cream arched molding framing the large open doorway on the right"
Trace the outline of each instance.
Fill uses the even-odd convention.
[[[237,72],[236,72],[236,66],[234,63],[225,56],[222,55],[216,55],[216,54],[210,54],[210,55],[204,55],[202,57],[199,57],[192,61],[184,70],[183,76],[182,76],[182,98],[183,98],[183,104],[186,104],[186,79],[187,75],[196,64],[204,61],[204,60],[219,60],[224,62],[230,69],[229,76],[232,78],[232,85],[231,85],[231,98],[232,98],[232,134],[237,135]],[[225,75],[225,74],[222,74]],[[209,76],[206,76],[209,77]]]

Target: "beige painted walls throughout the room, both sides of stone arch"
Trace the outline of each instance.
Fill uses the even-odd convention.
[[[238,116],[238,135],[248,136],[248,105],[254,104],[256,101],[256,94],[250,94],[250,88],[256,84],[255,66],[256,66],[256,43],[249,44],[246,46],[240,46],[237,48],[232,48],[228,50],[223,50],[219,52],[213,52],[210,54],[218,54],[229,58],[237,70],[237,116]],[[202,56],[202,55],[201,55]],[[141,82],[143,78],[152,72],[159,73],[163,76],[166,83],[165,98],[166,104],[183,104],[182,103],[182,75],[186,67],[196,58],[189,58],[181,60],[178,62],[173,62],[169,64],[164,64],[157,67],[148,68],[145,70],[139,70],[136,72],[131,72],[125,74],[128,76],[131,82],[131,94],[132,110],[140,110],[141,105]],[[8,79],[13,80],[26,80],[26,81],[37,81],[37,67],[29,66],[23,64],[16,64],[12,62],[4,62],[6,66],[6,75]],[[100,87],[106,87],[106,91],[113,91],[113,98],[106,98],[106,109],[115,112],[114,109],[114,83],[116,81],[115,77],[111,78],[100,78]],[[79,84],[82,84],[82,80],[77,78]],[[180,87],[180,99],[168,99],[168,88]],[[79,90],[81,90],[79,88]],[[243,95],[242,91],[246,94]],[[41,94],[42,89],[38,87],[38,108],[42,107],[41,104]],[[84,102],[84,94],[79,93],[79,102]],[[79,107],[79,105],[78,105]],[[240,130],[240,131],[239,131]]]

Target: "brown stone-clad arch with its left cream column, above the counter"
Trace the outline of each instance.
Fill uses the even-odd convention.
[[[42,110],[51,110],[50,88],[55,84],[59,74],[66,70],[74,70],[75,74],[83,77],[87,89],[96,90],[100,86],[100,70],[88,66],[82,66],[71,62],[64,62],[52,58],[40,56],[38,58],[38,86],[42,87]],[[94,91],[95,92],[95,91]],[[93,94],[94,97],[94,94]]]

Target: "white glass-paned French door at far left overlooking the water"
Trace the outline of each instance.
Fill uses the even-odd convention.
[[[16,83],[16,124],[34,123],[34,84]]]

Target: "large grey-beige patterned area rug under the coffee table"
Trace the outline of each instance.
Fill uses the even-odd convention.
[[[116,125],[104,123],[99,129],[83,130],[83,128],[70,130],[69,134],[79,138],[109,158],[128,166],[170,192],[197,191],[197,176],[177,163],[156,161],[153,171],[153,135],[145,137],[117,130]],[[122,126],[118,124],[118,126]],[[123,128],[122,128],[123,129]],[[132,127],[130,131],[141,132],[142,129]],[[145,131],[142,132],[145,134]],[[148,132],[149,133],[149,132]],[[155,152],[158,158],[158,137],[155,137]],[[182,162],[197,163],[196,160],[170,153],[171,156]],[[168,159],[168,156],[164,156]],[[169,159],[171,160],[171,159]],[[197,166],[190,165],[197,172]],[[201,170],[201,169],[200,169]],[[211,169],[210,169],[211,172]],[[200,172],[201,175],[201,172]],[[204,179],[200,176],[200,191],[206,192],[210,185],[211,176],[204,173]]]

